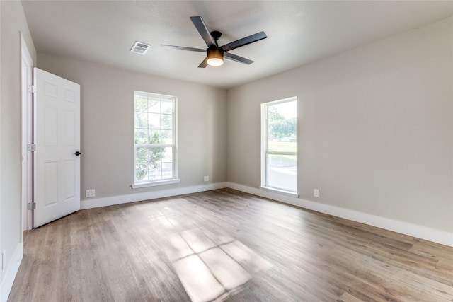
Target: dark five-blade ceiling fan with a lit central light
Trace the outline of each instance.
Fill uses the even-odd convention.
[[[171,48],[173,50],[188,50],[190,52],[207,52],[207,57],[201,62],[198,68],[205,68],[207,65],[210,66],[220,66],[224,64],[224,57],[226,59],[231,59],[232,61],[250,65],[253,63],[252,60],[246,59],[244,57],[236,56],[236,54],[230,54],[230,50],[234,50],[238,47],[248,45],[259,40],[263,40],[268,37],[263,31],[256,33],[254,35],[249,35],[248,37],[243,37],[242,39],[236,40],[234,42],[219,46],[217,40],[222,36],[217,30],[210,32],[207,29],[205,21],[200,16],[190,17],[193,25],[197,28],[198,33],[200,33],[203,40],[205,40],[207,49],[203,50],[201,48],[193,47],[183,47],[183,46],[174,46],[174,45],[163,45],[161,47]]]

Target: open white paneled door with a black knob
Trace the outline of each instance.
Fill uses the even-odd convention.
[[[33,69],[33,227],[80,209],[80,85]]]

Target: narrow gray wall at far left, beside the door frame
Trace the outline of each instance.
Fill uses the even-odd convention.
[[[12,260],[22,259],[21,225],[21,33],[34,62],[36,52],[20,1],[0,1],[0,251],[1,294],[11,281]],[[19,255],[20,254],[20,255]],[[6,276],[8,274],[8,276]],[[2,297],[0,296],[0,299]]]

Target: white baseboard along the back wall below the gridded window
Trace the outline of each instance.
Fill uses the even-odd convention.
[[[197,186],[193,186],[193,187],[178,187],[176,189],[141,192],[141,193],[112,196],[112,197],[84,199],[81,201],[80,207],[81,207],[81,209],[91,209],[91,208],[97,208],[97,207],[112,206],[115,204],[127,204],[129,202],[141,202],[142,200],[148,200],[148,199],[156,199],[156,198],[177,196],[177,195],[182,195],[182,194],[190,194],[190,193],[204,192],[204,191],[210,191],[210,190],[217,190],[217,189],[222,189],[222,188],[226,187],[226,185],[227,185],[227,182],[218,182],[218,183],[211,183],[211,184],[207,184],[207,185],[197,185]]]

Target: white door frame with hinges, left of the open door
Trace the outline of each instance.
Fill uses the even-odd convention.
[[[33,59],[21,33],[21,100],[22,100],[22,231],[33,228],[33,210],[27,204],[33,201]]]

